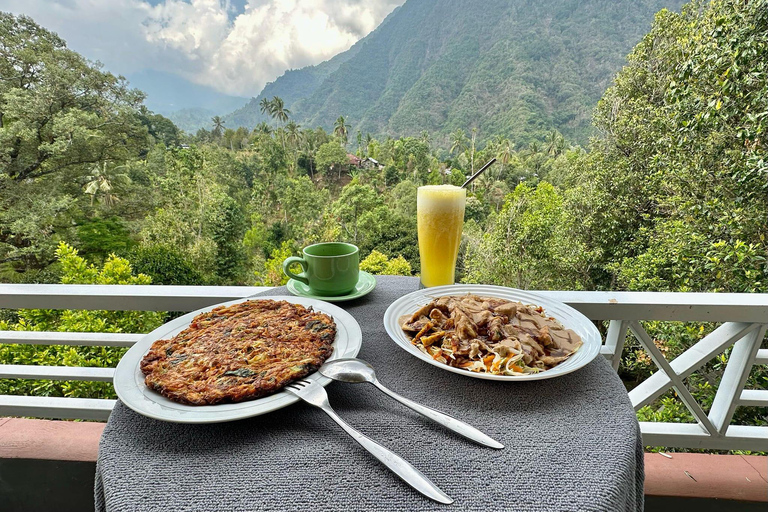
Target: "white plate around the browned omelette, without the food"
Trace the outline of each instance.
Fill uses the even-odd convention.
[[[333,342],[333,354],[328,358],[340,359],[342,357],[355,357],[360,352],[363,334],[357,321],[338,306],[328,304],[316,299],[293,296],[276,297],[258,297],[259,299],[285,300],[293,304],[302,306],[311,306],[315,311],[330,315],[336,322],[336,340]],[[156,340],[170,338],[186,329],[192,319],[200,313],[205,313],[218,306],[231,306],[251,300],[251,298],[238,299],[222,304],[214,304],[206,308],[198,309],[182,317],[161,325],[139,340],[123,356],[115,370],[115,391],[120,400],[128,407],[156,420],[172,421],[176,423],[217,423],[222,421],[232,421],[241,418],[249,418],[266,414],[287,405],[291,405],[299,400],[298,397],[280,391],[273,395],[249,400],[236,404],[220,405],[184,405],[168,400],[164,396],[152,391],[144,385],[144,374],[141,373],[139,364],[144,355],[149,351]],[[323,386],[328,385],[331,379],[323,377],[315,372],[306,377],[307,380],[315,381]]]

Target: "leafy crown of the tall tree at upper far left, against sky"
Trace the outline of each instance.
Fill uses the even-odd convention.
[[[26,16],[0,13],[0,163],[19,182],[138,154],[143,95]]]

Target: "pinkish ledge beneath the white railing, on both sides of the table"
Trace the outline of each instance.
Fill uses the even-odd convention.
[[[3,459],[24,459],[92,464],[98,455],[104,425],[0,418],[0,462]],[[645,494],[649,498],[718,500],[721,504],[723,501],[731,504],[768,502],[768,457],[699,453],[668,455],[645,454]],[[83,482],[83,485],[92,488],[93,479]]]

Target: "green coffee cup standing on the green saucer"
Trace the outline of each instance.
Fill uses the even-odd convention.
[[[315,295],[346,295],[355,289],[360,268],[360,251],[352,244],[327,242],[310,245],[303,256],[291,256],[283,262],[288,277],[309,286]],[[301,274],[291,272],[294,263],[301,265]]]

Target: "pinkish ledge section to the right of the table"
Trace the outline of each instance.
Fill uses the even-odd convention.
[[[645,454],[646,495],[768,501],[768,457],[668,455]]]

